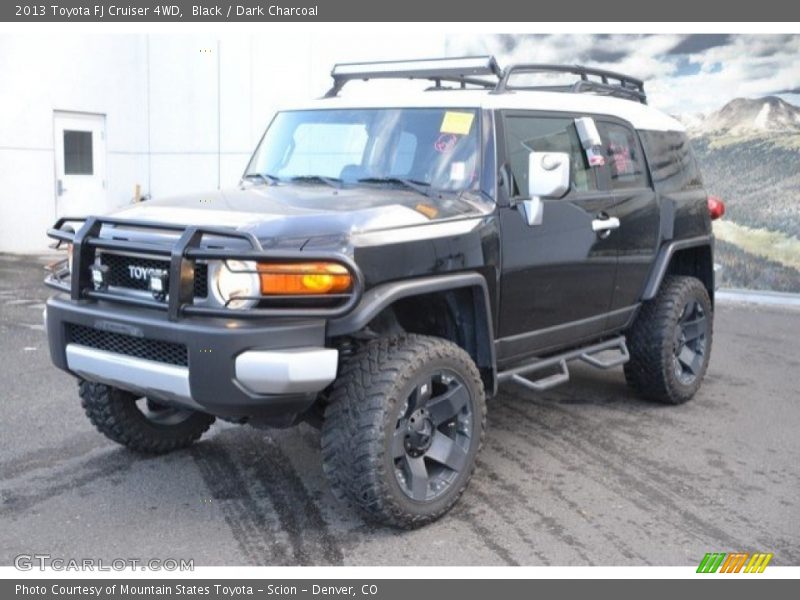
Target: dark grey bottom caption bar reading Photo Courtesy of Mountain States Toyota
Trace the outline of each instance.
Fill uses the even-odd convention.
[[[666,580],[554,579],[25,579],[0,581],[3,598],[16,600],[408,600],[415,598],[643,598],[693,600],[709,595],[726,598],[791,598],[791,579],[755,579],[700,575]],[[788,577],[788,575],[787,575]],[[702,581],[700,581],[702,580]],[[712,589],[713,587],[713,589]],[[796,595],[796,594],[795,594]]]

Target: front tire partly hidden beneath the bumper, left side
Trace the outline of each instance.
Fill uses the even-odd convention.
[[[194,412],[175,425],[153,423],[137,407],[137,396],[101,383],[81,381],[79,394],[86,416],[100,433],[144,454],[186,448],[214,422],[213,416]]]

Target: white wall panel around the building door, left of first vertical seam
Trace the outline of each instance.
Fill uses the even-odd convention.
[[[146,170],[146,40],[0,37],[0,250],[40,251],[55,218],[53,111],[106,114],[107,192]]]

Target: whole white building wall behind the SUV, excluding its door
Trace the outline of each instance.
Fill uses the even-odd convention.
[[[367,26],[365,26],[366,29]],[[442,56],[444,36],[0,36],[0,252],[43,252],[56,217],[53,112],[106,116],[106,203],[235,185],[274,111],[335,62]]]

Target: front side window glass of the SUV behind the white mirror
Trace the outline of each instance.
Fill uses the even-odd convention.
[[[528,155],[531,152],[566,152],[570,156],[572,189],[597,189],[592,168],[586,163],[572,119],[509,115],[505,119],[506,151],[514,179],[514,196],[528,195]]]

